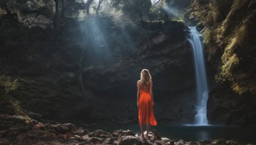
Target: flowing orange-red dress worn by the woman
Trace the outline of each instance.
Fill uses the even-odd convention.
[[[139,83],[140,85],[140,83]],[[150,83],[147,90],[144,92],[140,85],[140,99],[139,99],[139,121],[140,124],[147,124],[147,118],[149,118],[150,125],[156,126],[157,122],[154,117],[154,111],[152,106],[152,99],[150,96]]]

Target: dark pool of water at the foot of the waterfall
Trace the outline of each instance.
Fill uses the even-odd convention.
[[[102,127],[88,128],[92,131],[102,129],[108,132],[113,132],[116,129],[132,130],[136,134],[140,134],[139,125],[111,125]],[[144,128],[145,130],[146,128]],[[150,130],[155,129],[161,137],[168,137],[174,141],[184,139],[185,141],[205,141],[213,139],[235,140],[240,144],[256,144],[256,128],[252,127],[232,127],[232,126],[171,126],[157,125],[150,127]]]

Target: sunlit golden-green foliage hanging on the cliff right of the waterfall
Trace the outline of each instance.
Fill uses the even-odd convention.
[[[250,0],[199,2],[193,3],[194,10],[196,4],[199,7],[191,15],[212,28],[206,29],[203,36],[208,59],[217,69],[216,81],[228,82],[239,95],[255,95],[256,10],[248,7]]]

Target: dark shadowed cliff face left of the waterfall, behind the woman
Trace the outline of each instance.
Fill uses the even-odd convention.
[[[66,20],[56,31],[47,10],[31,27],[25,22],[32,14],[21,11],[38,13],[44,6],[53,11],[52,2],[47,2],[51,7],[44,2],[29,9],[23,2],[9,2],[12,13],[1,10],[2,98],[15,99],[25,113],[40,113],[44,119],[137,123],[136,81],[147,68],[154,81],[157,121],[193,122],[195,75],[184,24],[120,24],[114,17],[97,17]],[[77,82],[79,65],[84,92]]]

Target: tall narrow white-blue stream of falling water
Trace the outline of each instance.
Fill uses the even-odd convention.
[[[202,43],[200,41],[199,32],[196,30],[196,27],[189,27],[189,32],[190,37],[188,41],[193,48],[196,70],[196,90],[198,98],[196,105],[195,125],[208,125],[206,117],[208,90]]]

